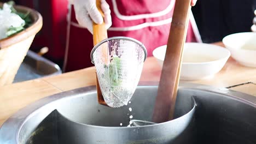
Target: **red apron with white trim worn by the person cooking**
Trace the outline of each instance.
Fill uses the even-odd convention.
[[[112,16],[108,37],[125,36],[141,41],[147,48],[148,56],[156,47],[167,44],[172,20],[174,1],[155,0],[107,0]],[[191,20],[187,42],[200,42],[196,37]],[[90,52],[93,47],[92,35],[75,20],[72,11],[66,71],[91,67]]]

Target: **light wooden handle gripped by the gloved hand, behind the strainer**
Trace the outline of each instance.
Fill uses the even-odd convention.
[[[102,17],[104,17],[103,11],[101,9],[101,1],[100,0],[96,0],[96,6],[97,6],[98,10],[100,11]],[[97,45],[98,43],[100,43],[100,41],[108,38],[107,29],[105,27],[104,22],[101,25],[93,23],[92,27],[93,27],[94,46]],[[106,52],[103,52],[103,53],[107,54],[107,50],[106,50]],[[106,56],[106,55],[103,55],[103,56]],[[106,102],[104,101],[104,98],[101,93],[101,88],[98,83],[97,74],[96,74],[96,87],[97,87],[98,103],[102,104],[102,105],[107,105]]]

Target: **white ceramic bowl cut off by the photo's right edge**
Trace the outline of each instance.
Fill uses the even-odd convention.
[[[238,63],[256,67],[256,32],[230,34],[222,41]]]

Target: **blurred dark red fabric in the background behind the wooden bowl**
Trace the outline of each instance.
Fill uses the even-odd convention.
[[[43,27],[37,33],[31,45],[31,50],[39,51],[49,47],[44,56],[56,63],[63,61],[66,45],[66,16],[68,0],[19,0],[21,5],[36,9],[43,17]]]

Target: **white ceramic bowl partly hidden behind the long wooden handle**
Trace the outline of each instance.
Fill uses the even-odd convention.
[[[158,59],[162,67],[165,58],[166,45],[153,51],[153,56]],[[229,50],[212,44],[185,43],[181,80],[206,79],[218,73],[230,57]]]

